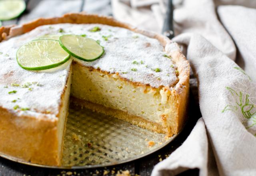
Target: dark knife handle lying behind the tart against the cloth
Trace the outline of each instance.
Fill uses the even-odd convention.
[[[173,27],[173,6],[172,0],[168,0],[166,14],[164,17],[164,25],[162,28],[162,34],[168,38],[174,38],[174,27]]]

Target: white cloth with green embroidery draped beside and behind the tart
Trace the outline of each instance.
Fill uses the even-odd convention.
[[[112,0],[114,16],[159,32],[163,2],[155,0],[147,9],[143,1],[132,0],[130,7],[128,0]],[[173,40],[185,46],[197,78],[202,118],[152,175],[176,175],[189,168],[199,168],[200,176],[256,175],[256,0],[174,2]]]

